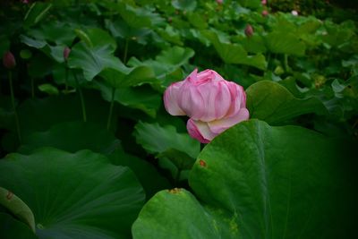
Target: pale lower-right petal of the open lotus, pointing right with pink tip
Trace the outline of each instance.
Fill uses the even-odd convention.
[[[208,123],[209,130],[210,132],[218,134],[234,126],[234,124],[238,124],[244,120],[249,119],[249,117],[250,117],[249,110],[247,110],[247,108],[241,108],[234,116],[209,122]]]

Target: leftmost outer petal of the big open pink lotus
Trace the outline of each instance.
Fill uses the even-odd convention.
[[[178,105],[179,91],[182,85],[183,81],[175,82],[164,92],[164,106],[170,115],[186,115]]]

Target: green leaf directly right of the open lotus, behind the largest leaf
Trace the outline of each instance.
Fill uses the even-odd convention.
[[[295,98],[289,90],[273,81],[254,83],[246,93],[251,118],[264,120],[268,124],[278,124],[308,113],[327,113],[320,99]]]

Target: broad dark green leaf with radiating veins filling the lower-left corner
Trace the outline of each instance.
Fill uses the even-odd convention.
[[[144,201],[127,167],[89,150],[10,154],[0,161],[0,184],[33,211],[38,238],[130,238]]]

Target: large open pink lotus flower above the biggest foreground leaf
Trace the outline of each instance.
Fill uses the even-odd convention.
[[[243,87],[212,70],[195,69],[184,81],[171,84],[164,105],[170,115],[188,115],[189,134],[203,143],[249,118]]]

